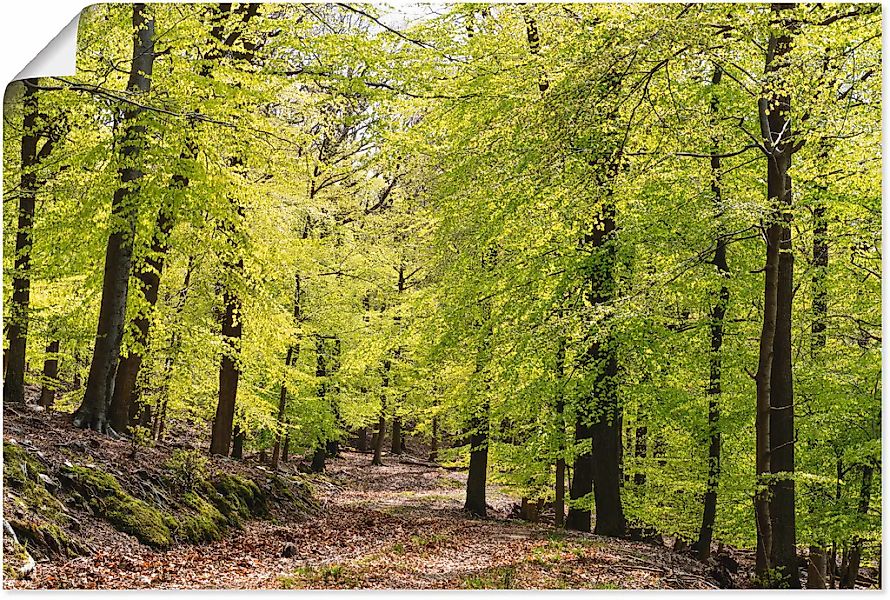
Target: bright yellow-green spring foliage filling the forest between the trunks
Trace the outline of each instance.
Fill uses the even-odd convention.
[[[114,226],[113,125],[126,101],[126,68],[116,65],[129,60],[128,10],[87,9],[77,76],[41,80],[42,118],[64,123],[65,134],[40,167],[28,359],[36,372],[58,337],[66,381],[88,366]],[[753,545],[752,373],[762,232],[773,214],[758,148],[758,99],[775,83],[764,75],[768,5],[454,4],[435,14],[415,7],[421,17],[405,24],[378,7],[263,4],[248,21],[223,19],[241,37],[211,61],[202,58],[218,46],[210,5],[151,11],[163,53],[144,100],[151,143],[135,268],[159,207],[171,197],[177,206],[139,380],[156,417],[166,407],[168,419],[213,418],[226,286],[243,303],[236,423],[249,450],[271,447],[286,427],[292,450],[307,453],[373,426],[384,409],[388,422],[397,415],[424,436],[436,417],[454,441],[486,401],[490,477],[551,499],[553,465],[578,451],[575,415],[594,384],[584,353],[608,334],[618,344],[625,512],[633,525],[694,539],[707,483],[710,311],[725,284],[715,538]],[[798,542],[872,543],[881,506],[880,8],[791,12]],[[20,94],[10,86],[5,103],[10,199]],[[599,259],[580,240],[603,207],[601,167],[616,149],[608,187],[617,262],[605,282],[615,300],[591,305],[583,290]],[[176,175],[188,186],[172,188]],[[819,207],[827,268],[813,258]],[[5,300],[14,213],[4,212]],[[728,278],[710,263],[719,236]],[[224,267],[232,256],[243,269]],[[821,345],[812,330],[819,289],[828,305]],[[146,309],[131,285],[129,314]],[[125,351],[132,343],[128,335]],[[74,407],[81,394],[59,404]],[[465,464],[467,454],[444,448],[440,458]],[[863,513],[868,467],[877,469]],[[261,503],[249,482],[215,486],[224,500],[208,500],[229,520]],[[194,526],[212,535],[216,513],[193,508]],[[169,541],[163,519],[148,520],[146,539]]]

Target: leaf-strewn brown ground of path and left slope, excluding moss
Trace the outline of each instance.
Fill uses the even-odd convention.
[[[249,461],[212,460],[207,479],[214,489],[225,488],[220,480],[256,482],[264,508],[252,509],[245,501],[234,522],[220,520],[214,535],[189,539],[181,523],[199,511],[183,500],[184,494],[176,496],[175,484],[165,483],[171,471],[165,457],[175,448],[138,448],[131,461],[129,442],[75,430],[66,415],[7,410],[5,420],[7,452],[12,449],[17,460],[25,451],[30,457],[26,462],[34,461],[31,471],[59,480],[58,489],[50,484],[40,489],[61,500],[63,515],[44,515],[33,508],[23,514],[26,494],[21,482],[13,480],[15,461],[7,459],[6,518],[16,523],[20,537],[21,523],[28,519],[56,524],[61,537],[75,545],[51,550],[29,543],[37,567],[27,579],[7,579],[7,587],[718,587],[709,568],[662,546],[509,520],[513,500],[497,489],[489,497],[493,518],[470,519],[460,510],[462,473],[410,458],[397,462],[397,457],[372,468],[369,456],[353,452],[330,461],[327,475],[313,479],[320,510],[313,510],[315,504],[293,464],[273,476]],[[167,523],[169,544],[152,547],[144,533],[146,543],[121,533],[120,523],[109,520],[95,502],[84,494],[76,497],[76,484],[62,481],[70,472],[68,465],[93,465],[93,470],[113,476],[136,502],[158,511],[161,522]],[[33,492],[42,477],[29,475],[27,465],[23,473],[34,484]],[[66,486],[74,491],[66,491]],[[152,488],[163,488],[158,495],[165,497],[153,497]],[[212,495],[205,488],[200,493]],[[237,492],[228,493],[220,495],[238,504]],[[213,500],[206,503],[212,505]],[[225,508],[219,498],[216,502]]]

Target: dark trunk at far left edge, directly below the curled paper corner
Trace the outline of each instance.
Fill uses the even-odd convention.
[[[37,79],[24,79],[22,123],[22,172],[19,189],[18,229],[15,236],[15,271],[12,276],[12,303],[6,335],[9,350],[4,355],[6,377],[3,381],[3,401],[25,401],[25,349],[28,342],[28,320],[31,304],[31,247],[34,225],[34,205],[37,199],[37,142],[39,104]]]

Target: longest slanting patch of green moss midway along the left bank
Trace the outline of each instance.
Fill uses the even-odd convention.
[[[80,466],[63,467],[62,473],[89,499],[90,506],[119,531],[155,548],[173,543],[164,513],[125,492],[113,475]]]

